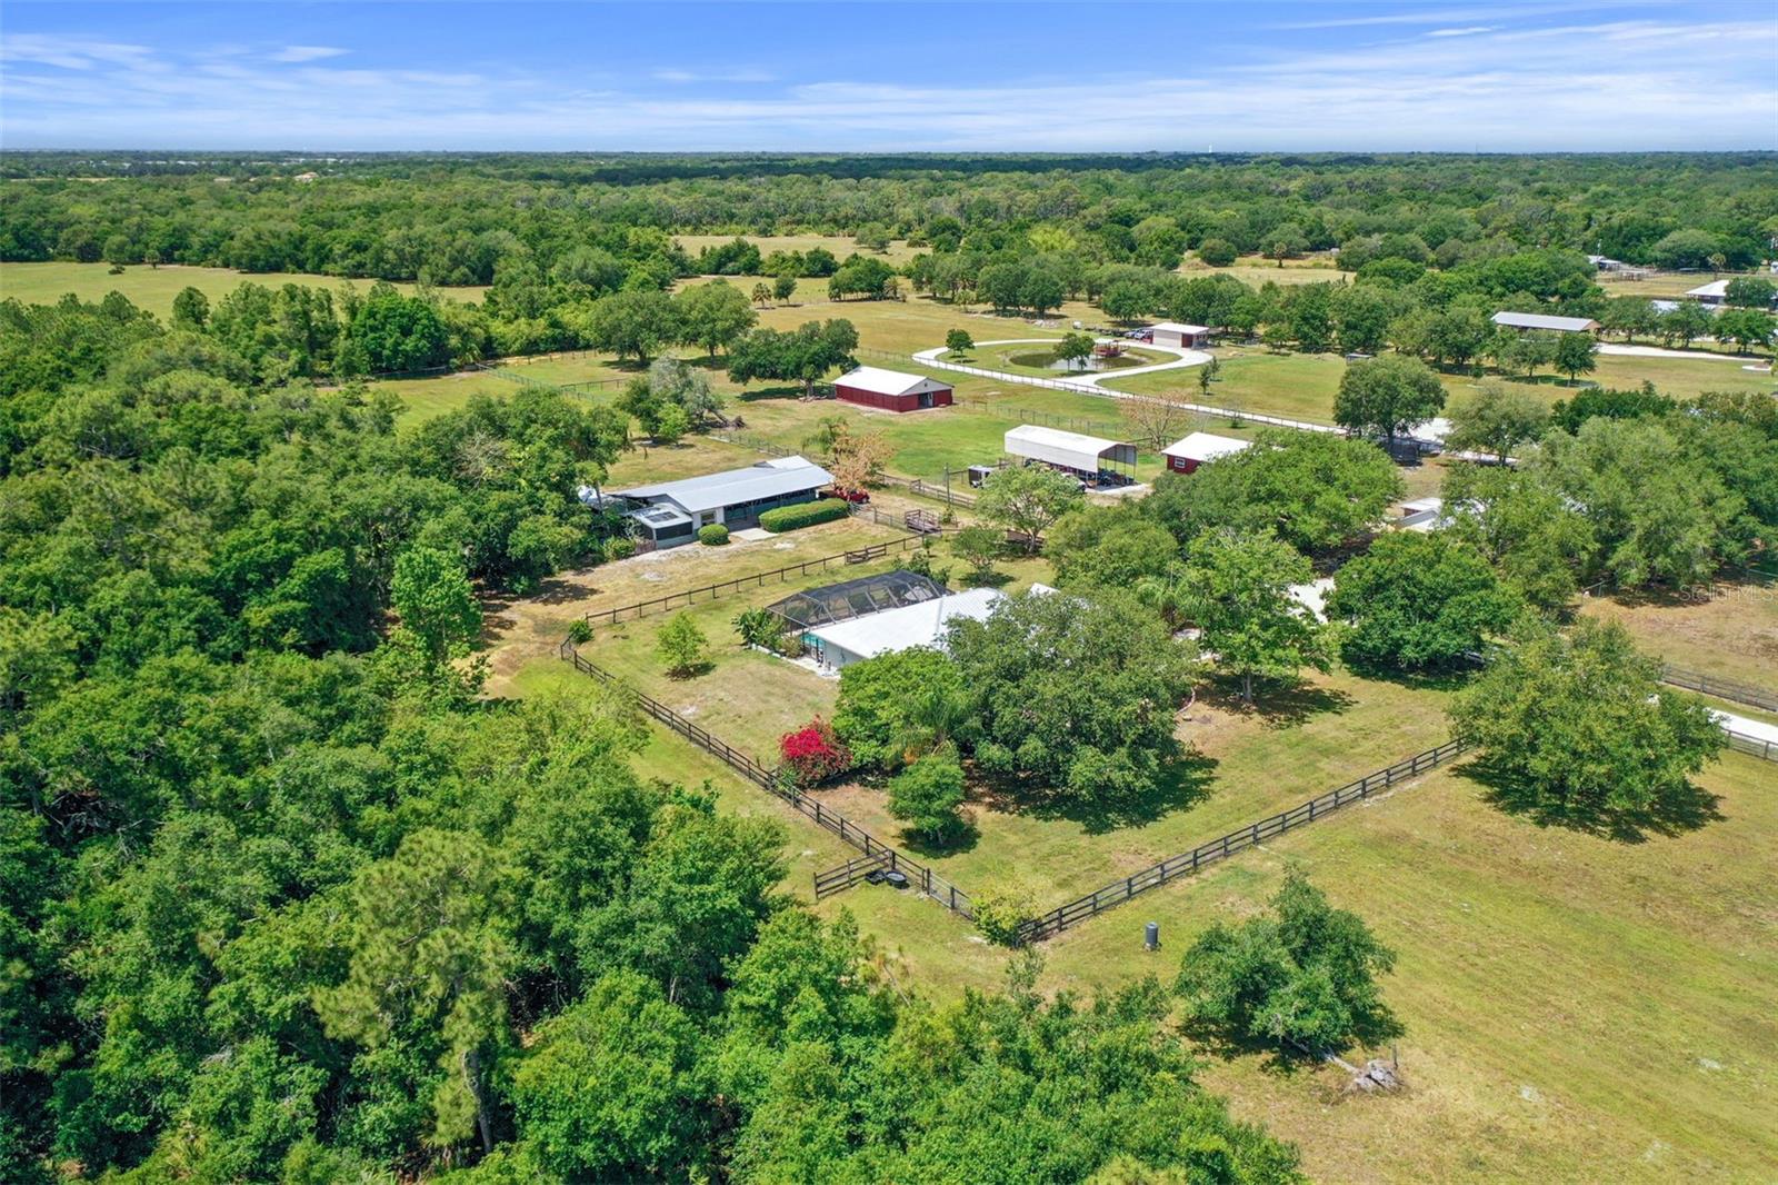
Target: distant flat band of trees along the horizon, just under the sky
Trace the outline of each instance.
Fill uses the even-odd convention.
[[[153,173],[153,176],[142,176]],[[313,183],[293,176],[316,173]],[[1412,235],[1428,251],[1499,242],[1630,263],[1757,263],[1778,233],[1778,157],[649,157],[7,153],[0,260],[192,263],[485,285],[505,251],[541,267],[617,228],[859,233],[912,246],[1060,228],[1093,263],[1172,222],[1182,249],[1262,253],[1280,228],[1325,251]],[[108,178],[103,190],[94,178]],[[1700,258],[1662,260],[1673,233]],[[407,249],[380,249],[389,238]],[[448,244],[459,244],[448,247]],[[473,256],[473,258],[471,258]]]

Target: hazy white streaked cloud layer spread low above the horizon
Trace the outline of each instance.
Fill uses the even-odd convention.
[[[1463,28],[1463,25],[1440,25]],[[1771,21],[1606,21],[1198,59],[1172,77],[859,80],[663,93],[532,73],[288,69],[190,53],[9,68],[9,146],[341,149],[1604,151],[1771,148]],[[1675,46],[1680,52],[1675,52]],[[14,46],[7,44],[7,53]],[[128,57],[128,55],[124,55]],[[16,60],[16,59],[14,59]],[[747,75],[749,71],[736,71]],[[661,77],[667,75],[667,77]],[[656,82],[717,82],[663,69]],[[752,80],[752,75],[749,75]],[[1709,117],[1698,96],[1709,94]]]

